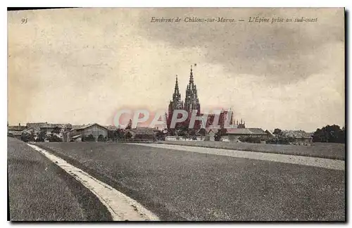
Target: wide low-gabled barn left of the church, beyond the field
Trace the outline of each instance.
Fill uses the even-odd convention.
[[[79,141],[80,139],[87,139],[89,136],[92,136],[95,141],[98,138],[106,138],[108,137],[108,129],[97,123],[84,125],[63,132],[63,141],[73,141],[73,139]]]

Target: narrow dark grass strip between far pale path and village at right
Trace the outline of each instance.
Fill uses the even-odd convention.
[[[316,158],[345,160],[345,144],[315,143],[312,146],[297,146],[279,144],[234,143],[227,141],[159,141],[158,143],[182,146],[223,148],[238,151],[282,153],[296,156],[310,156]]]

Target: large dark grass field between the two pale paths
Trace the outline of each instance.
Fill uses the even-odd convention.
[[[134,198],[161,220],[345,217],[344,170],[115,142],[37,145]]]

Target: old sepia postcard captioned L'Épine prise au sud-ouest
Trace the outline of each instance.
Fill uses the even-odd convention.
[[[346,222],[344,8],[8,11],[8,220]]]

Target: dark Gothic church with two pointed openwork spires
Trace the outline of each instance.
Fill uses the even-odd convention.
[[[178,79],[176,75],[176,82],[175,82],[175,89],[172,94],[172,99],[170,100],[169,107],[168,107],[168,115],[166,118],[166,123],[168,129],[170,129],[170,124],[172,120],[172,115],[174,113],[174,110],[186,110],[187,113],[189,113],[188,118],[184,122],[177,123],[175,128],[179,127],[188,127],[189,126],[189,121],[191,119],[191,112],[192,110],[197,110],[197,116],[202,116],[204,115],[201,113],[201,103],[199,103],[199,98],[198,98],[198,91],[196,88],[196,83],[194,82],[194,75],[193,75],[193,69],[191,66],[191,72],[189,74],[189,83],[187,84],[186,88],[186,96],[184,98],[184,101],[182,101],[182,97],[180,94],[180,89],[178,85]],[[220,113],[219,117],[219,122],[218,125],[220,127],[225,126],[225,121],[227,120],[227,115],[228,111],[227,110],[222,110],[222,113]],[[181,118],[181,116],[177,116],[177,118]],[[213,124],[213,121],[215,119],[215,114],[208,114],[207,122],[206,122],[206,128],[210,127]],[[230,125],[233,125],[235,122],[233,120],[233,113],[231,115],[231,120],[230,120]],[[245,128],[245,122],[241,120],[240,122],[237,120],[237,127],[238,128]],[[200,129],[201,128],[201,121],[196,120],[195,129]]]

